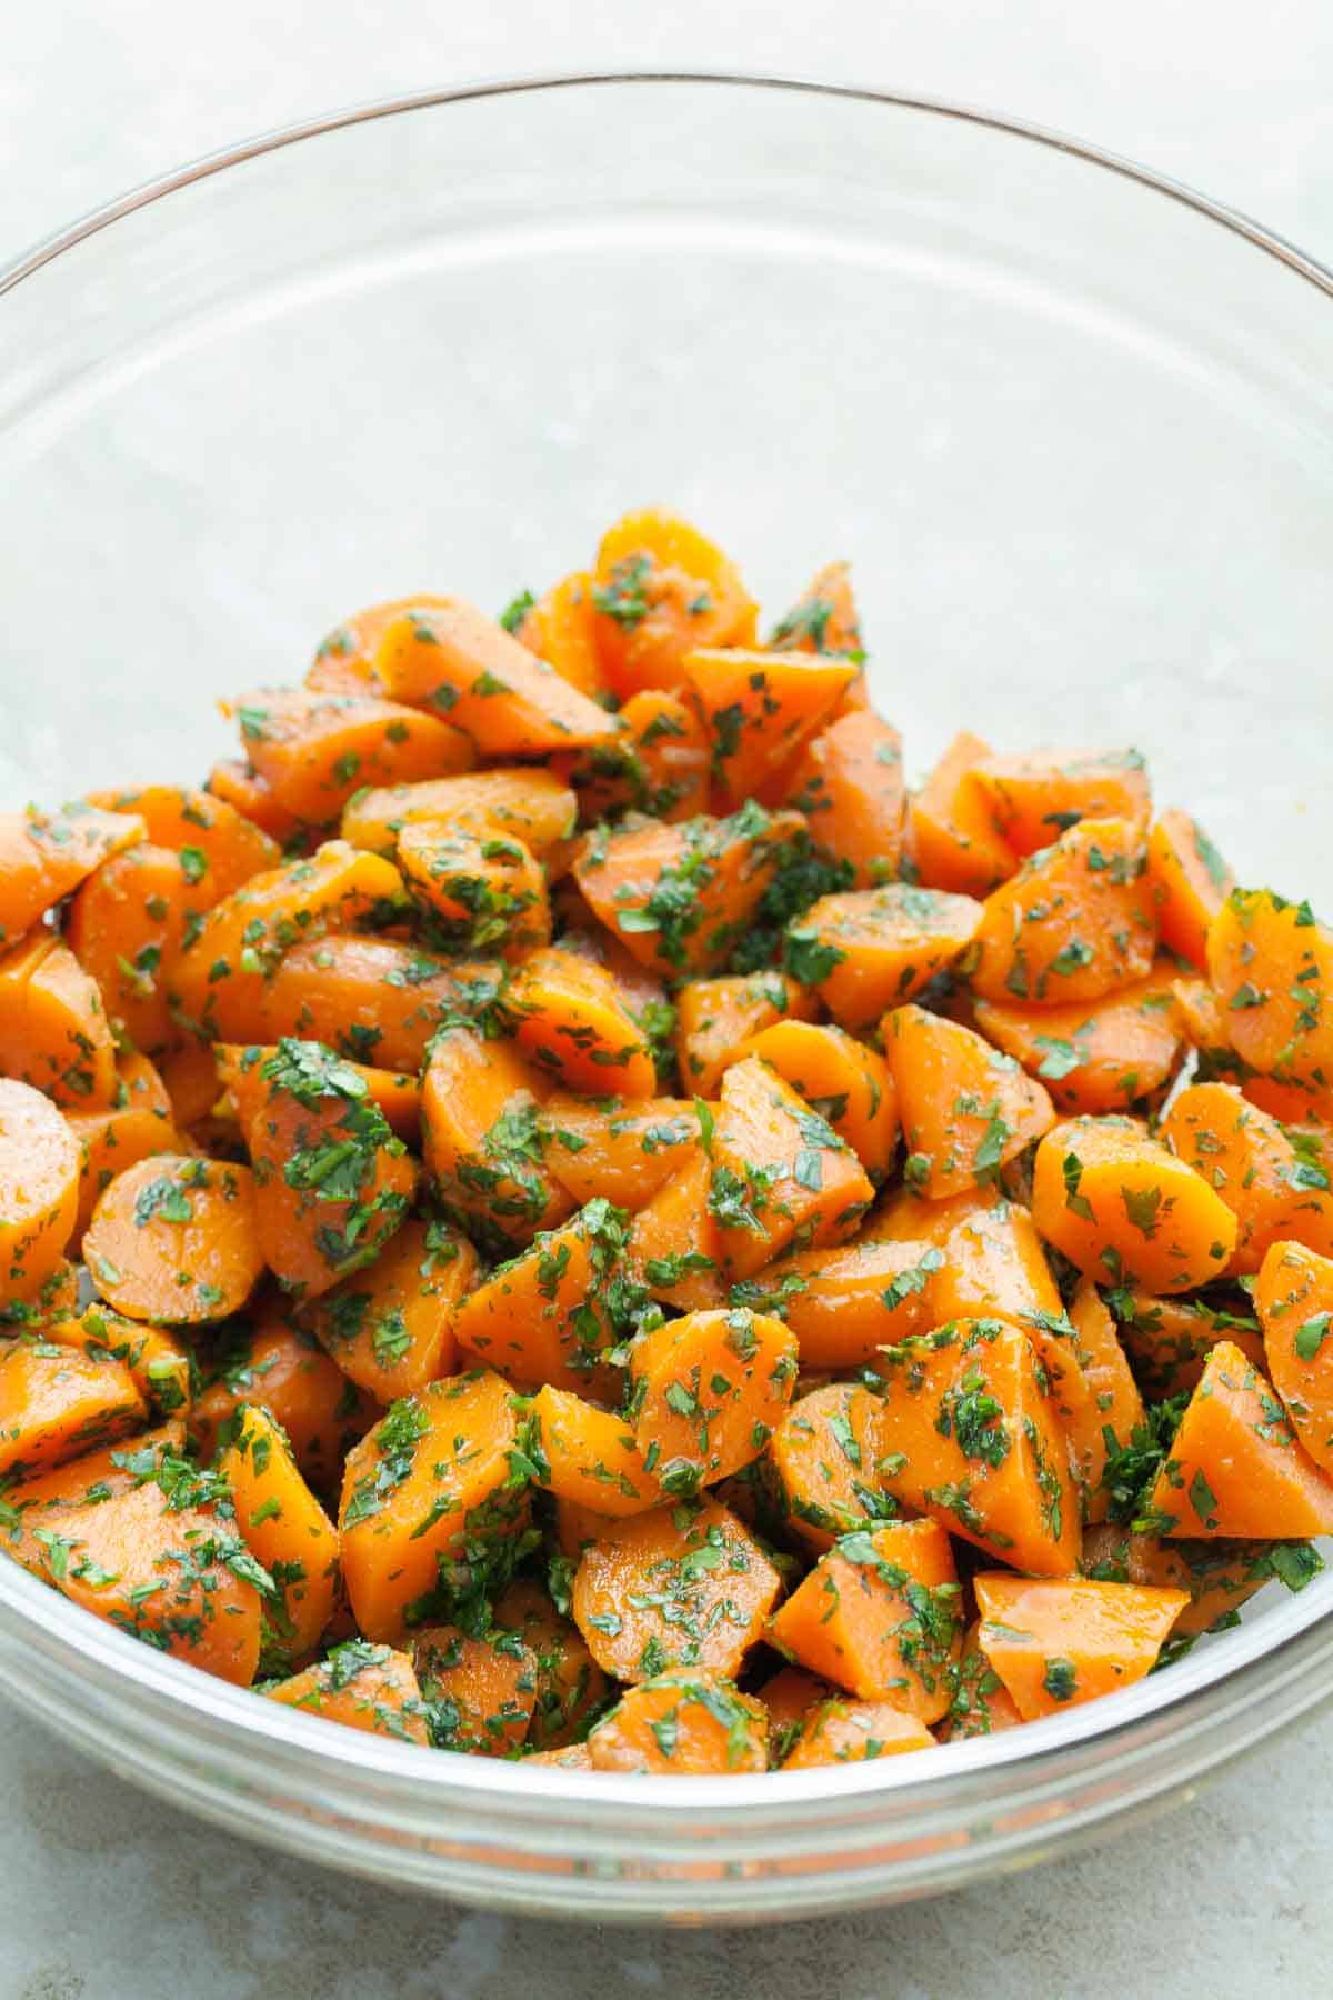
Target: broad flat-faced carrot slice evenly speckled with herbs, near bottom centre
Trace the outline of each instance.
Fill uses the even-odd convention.
[[[735,1674],[763,1632],[779,1576],[715,1500],[683,1500],[610,1522],[574,1578],[574,1622],[616,1680],[671,1666]]]

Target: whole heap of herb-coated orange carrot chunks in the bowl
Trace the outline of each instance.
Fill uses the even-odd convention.
[[[0,1544],[348,1728],[915,1754],[1333,1530],[1333,932],[638,512],[0,816]],[[901,718],[899,718],[901,720]]]

